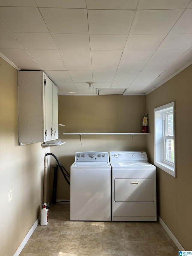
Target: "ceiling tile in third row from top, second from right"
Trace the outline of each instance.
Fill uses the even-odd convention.
[[[124,51],[156,50],[166,35],[129,35]]]

